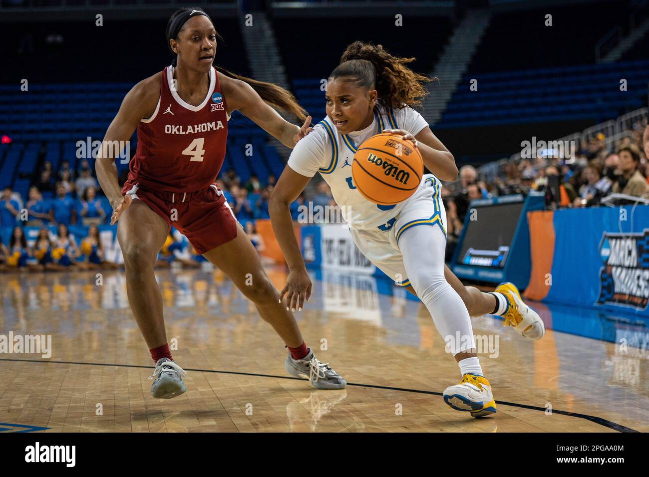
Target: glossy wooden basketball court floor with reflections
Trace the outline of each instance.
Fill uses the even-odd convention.
[[[284,286],[284,269],[268,273]],[[313,273],[297,320],[306,343],[349,383],[321,391],[286,374],[283,343],[223,273],[156,275],[173,356],[189,373],[188,392],[173,400],[149,394],[153,363],[123,272],[0,275],[0,430],[649,430],[643,320],[533,304],[548,332],[532,342],[495,317],[473,319],[474,334],[497,343],[480,359],[498,413],[480,420],[443,402],[458,368],[426,308],[390,282]],[[51,336],[51,358],[3,350],[10,333]]]

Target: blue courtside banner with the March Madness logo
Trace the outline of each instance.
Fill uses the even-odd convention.
[[[649,317],[649,206],[557,210],[552,225],[544,301]]]

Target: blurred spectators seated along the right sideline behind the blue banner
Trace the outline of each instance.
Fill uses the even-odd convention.
[[[599,133],[574,151],[572,157],[561,158],[557,151],[539,151],[536,158],[500,162],[498,174],[491,180],[480,178],[471,165],[459,169],[459,179],[442,190],[447,212],[447,261],[450,260],[462,230],[469,202],[511,193],[548,191],[554,178],[559,184],[559,197],[548,197],[551,208],[582,208],[598,206],[613,193],[632,198],[649,199],[649,127],[646,119],[631,127],[626,137],[607,141]],[[549,203],[548,203],[549,202]]]

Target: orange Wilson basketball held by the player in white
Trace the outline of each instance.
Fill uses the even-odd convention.
[[[395,134],[377,134],[363,142],[352,163],[352,180],[367,199],[394,205],[413,195],[424,173],[419,149]]]

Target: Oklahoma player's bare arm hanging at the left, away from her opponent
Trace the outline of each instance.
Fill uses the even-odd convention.
[[[117,115],[106,130],[102,147],[97,155],[95,163],[97,180],[113,208],[110,217],[111,225],[117,222],[119,215],[130,205],[130,196],[122,196],[119,188],[115,158],[121,152],[123,145],[130,140],[140,120],[153,115],[160,98],[161,74],[157,73],[140,81],[127,93]]]

